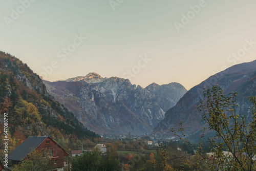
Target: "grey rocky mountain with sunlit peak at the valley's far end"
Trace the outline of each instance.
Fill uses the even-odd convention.
[[[128,79],[102,78],[96,73],[44,82],[57,101],[97,133],[151,133],[165,111],[186,93],[179,83],[162,86],[153,83],[143,89]]]

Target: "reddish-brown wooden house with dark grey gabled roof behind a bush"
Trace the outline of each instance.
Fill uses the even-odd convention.
[[[69,156],[69,154],[49,136],[28,137],[11,152],[8,159],[12,160],[12,165],[18,164],[25,159],[30,152],[35,150],[42,151],[43,153],[49,152],[54,163],[53,170],[63,171],[64,157]]]

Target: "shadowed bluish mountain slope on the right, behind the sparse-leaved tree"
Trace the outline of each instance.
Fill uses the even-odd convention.
[[[217,73],[198,86],[190,89],[177,104],[169,109],[154,129],[154,134],[172,135],[170,127],[178,128],[182,120],[184,122],[184,131],[188,134],[197,134],[202,129],[203,123],[198,112],[195,112],[195,106],[200,99],[203,99],[203,89],[209,89],[218,84],[224,94],[231,91],[238,92],[238,113],[248,115],[248,96],[256,95],[256,60],[240,65],[232,66],[225,71]]]

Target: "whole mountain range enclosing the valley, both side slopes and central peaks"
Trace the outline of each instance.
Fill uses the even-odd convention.
[[[238,92],[237,112],[249,117],[248,96],[256,96],[256,60],[232,66],[187,91],[176,82],[142,88],[97,73],[50,82],[0,51],[0,112],[10,114],[9,131],[20,141],[51,135],[61,144],[71,135],[97,138],[94,132],[171,136],[170,127],[177,129],[181,120],[184,131],[196,135],[204,123],[195,106],[203,99],[203,89],[216,84],[224,94]]]

